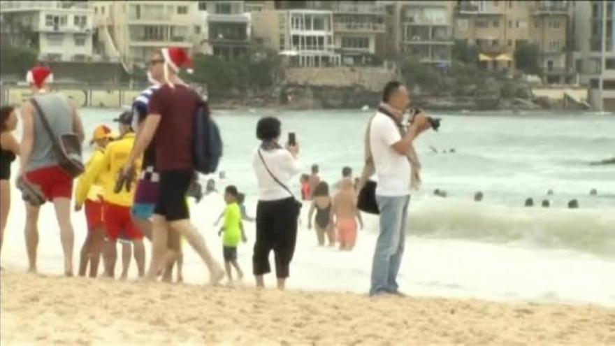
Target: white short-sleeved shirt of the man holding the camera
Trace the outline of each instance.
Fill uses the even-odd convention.
[[[378,177],[378,196],[410,195],[410,162],[391,147],[401,139],[395,122],[377,112],[370,128],[370,148]]]

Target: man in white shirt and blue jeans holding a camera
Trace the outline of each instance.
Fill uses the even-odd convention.
[[[408,106],[406,87],[396,81],[387,83],[382,103],[368,128],[366,150],[378,178],[376,201],[380,213],[370,296],[400,295],[397,274],[404,250],[410,190],[417,189],[420,183],[420,164],[413,142],[431,127],[428,118],[419,112],[406,131],[402,122]]]

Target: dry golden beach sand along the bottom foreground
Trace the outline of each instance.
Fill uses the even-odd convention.
[[[615,345],[615,309],[1,274],[2,345]]]

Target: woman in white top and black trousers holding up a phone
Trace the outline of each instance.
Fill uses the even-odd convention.
[[[282,147],[278,143],[282,124],[275,117],[265,117],[256,127],[261,140],[254,151],[252,165],[259,184],[256,207],[256,243],[254,275],[256,287],[264,287],[263,275],[270,273],[269,253],[275,254],[277,288],[284,289],[295,251],[298,224],[297,201],[289,182],[301,172],[298,145]]]

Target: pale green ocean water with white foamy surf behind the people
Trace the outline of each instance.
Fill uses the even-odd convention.
[[[113,125],[120,110],[82,110],[88,133],[97,124]],[[218,189],[237,185],[247,194],[247,209],[256,209],[252,153],[258,144],[255,125],[261,116],[280,117],[284,135],[297,134],[305,171],[317,163],[328,182],[342,166],[358,173],[363,134],[372,111],[360,110],[215,110],[224,139],[221,169],[226,179]],[[417,296],[484,298],[503,301],[594,303],[615,306],[615,166],[590,166],[615,156],[615,115],[608,113],[437,113],[440,131],[421,136],[417,150],[424,186],[412,196],[400,286]],[[435,153],[455,149],[454,154]],[[89,152],[87,153],[89,155]],[[17,166],[14,166],[17,169]],[[202,177],[203,182],[208,177]],[[449,198],[433,196],[439,188]],[[598,196],[589,196],[590,189]],[[296,182],[298,192],[298,180]],[[553,189],[554,195],[547,196]],[[484,192],[482,203],[472,202]],[[24,207],[13,191],[13,210],[2,263],[26,268]],[[551,208],[523,208],[532,197]],[[566,208],[578,199],[578,210]],[[215,256],[222,243],[213,221],[222,212],[219,194],[192,202],[194,222]],[[309,206],[305,206],[307,212]],[[85,237],[85,217],[72,216],[75,265]],[[377,237],[377,218],[366,215],[354,252],[317,247],[303,215],[289,288],[366,293]],[[52,208],[43,208],[39,268],[61,272],[59,230]],[[244,270],[251,271],[254,224],[247,224],[249,243],[240,247]],[[149,250],[149,249],[148,249]],[[196,254],[185,250],[188,282],[206,280]],[[273,259],[273,255],[272,255]],[[272,261],[273,264],[273,261]],[[134,271],[132,272],[135,273]],[[274,277],[269,275],[273,285]],[[252,284],[251,277],[246,284]]]

